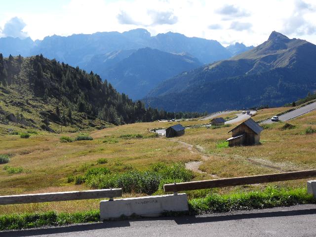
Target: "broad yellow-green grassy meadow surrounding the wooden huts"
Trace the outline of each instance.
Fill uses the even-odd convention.
[[[263,109],[253,119],[271,117],[287,108]],[[234,117],[235,114],[228,115]],[[208,120],[183,121],[183,125],[206,123]],[[146,172],[157,163],[172,165],[202,161],[192,180],[237,177],[316,168],[316,111],[285,122],[264,125],[261,145],[229,148],[225,140],[231,137],[230,127],[211,129],[192,127],[175,138],[155,136],[151,128],[168,127],[178,122],[134,123],[101,130],[65,134],[29,131],[29,138],[5,133],[8,128],[27,133],[26,128],[0,125],[0,155],[9,158],[0,164],[0,195],[31,194],[87,190],[85,183],[76,184],[89,169],[106,168],[111,174],[133,170]],[[309,131],[311,127],[312,132]],[[61,140],[60,138],[68,137]],[[93,140],[77,140],[90,136]],[[67,142],[69,141],[69,142]],[[10,172],[9,172],[10,171]],[[100,174],[100,177],[103,177]],[[248,185],[232,188],[187,192],[190,198],[208,194],[264,190],[268,185],[302,188],[306,180],[274,184]],[[161,189],[157,194],[162,194]],[[124,193],[124,197],[144,196],[144,193]],[[77,212],[97,209],[99,200],[79,200],[0,206],[0,214],[41,212]]]

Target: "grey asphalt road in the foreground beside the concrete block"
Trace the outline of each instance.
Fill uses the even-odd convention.
[[[316,205],[105,222],[1,233],[1,237],[316,237]]]

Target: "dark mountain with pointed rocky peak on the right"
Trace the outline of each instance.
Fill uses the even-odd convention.
[[[314,90],[316,45],[273,32],[264,43],[230,60],[162,82],[146,100],[168,110],[216,111],[278,106]]]

